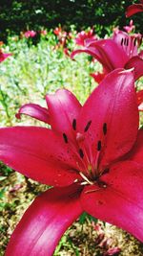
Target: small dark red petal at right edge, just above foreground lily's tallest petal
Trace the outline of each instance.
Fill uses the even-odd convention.
[[[138,56],[130,58],[126,63],[125,68],[130,69],[132,67],[134,68],[134,79],[136,81],[143,76],[143,59]]]

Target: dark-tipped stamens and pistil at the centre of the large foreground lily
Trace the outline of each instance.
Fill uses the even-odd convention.
[[[80,133],[76,130],[76,119],[72,120],[72,129],[75,133],[75,141],[73,142],[71,138],[67,136],[66,133],[63,133],[63,139],[66,144],[70,144],[71,150],[75,156],[77,156],[77,171],[82,177],[80,180],[81,185],[105,185],[101,181],[101,175],[104,175],[109,172],[109,168],[100,170],[99,167],[102,155],[105,150],[105,140],[108,132],[107,123],[104,123],[102,126],[102,132],[100,133],[100,139],[97,141],[96,146],[92,146],[88,141],[90,133],[87,134],[89,129],[92,126],[92,120],[90,120],[84,128],[84,132]],[[94,149],[92,151],[92,148]],[[79,182],[79,180],[75,180]]]

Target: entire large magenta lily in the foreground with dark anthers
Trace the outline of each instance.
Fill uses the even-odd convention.
[[[53,186],[32,202],[6,256],[51,256],[83,211],[143,242],[143,129],[133,81],[133,71],[116,69],[83,106],[60,89],[46,96],[48,111],[20,110],[46,123],[49,116],[51,128],[0,128],[0,160]]]

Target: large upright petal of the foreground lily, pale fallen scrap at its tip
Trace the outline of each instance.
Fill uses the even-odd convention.
[[[102,164],[130,151],[138,130],[133,72],[116,69],[107,75],[83,105],[77,121],[80,133],[92,121],[85,136],[93,155],[101,141]]]

